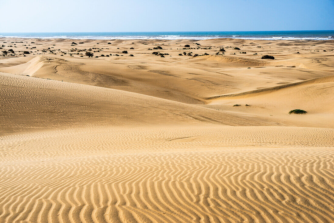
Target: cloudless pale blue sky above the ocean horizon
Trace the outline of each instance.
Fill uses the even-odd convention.
[[[334,30],[334,0],[0,0],[0,32]]]

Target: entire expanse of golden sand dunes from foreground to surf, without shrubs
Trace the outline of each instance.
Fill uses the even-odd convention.
[[[334,222],[334,41],[1,45],[0,222]]]

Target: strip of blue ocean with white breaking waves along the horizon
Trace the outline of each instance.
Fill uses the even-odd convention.
[[[200,31],[200,32],[12,32],[0,37],[69,39],[334,39],[334,30],[308,31]]]

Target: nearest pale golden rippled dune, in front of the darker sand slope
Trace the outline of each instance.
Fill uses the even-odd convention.
[[[1,137],[0,222],[333,222],[333,135],[197,126]]]

